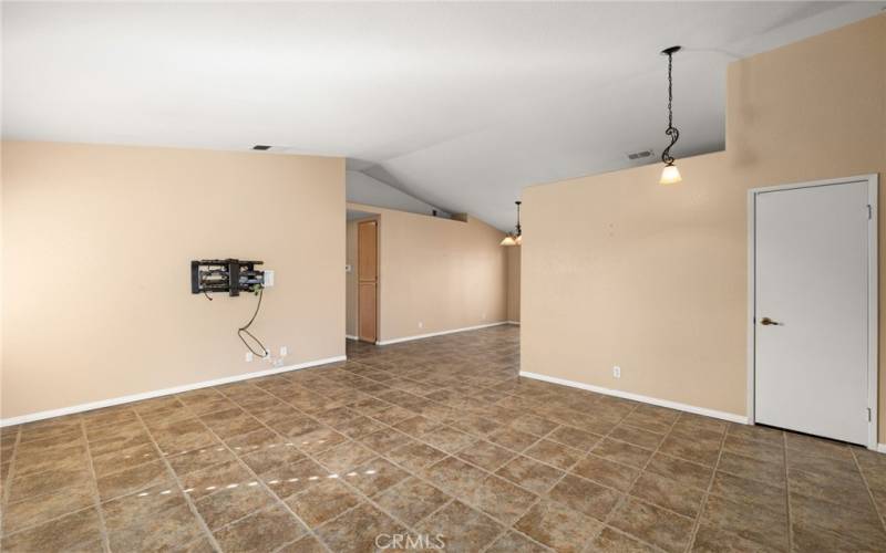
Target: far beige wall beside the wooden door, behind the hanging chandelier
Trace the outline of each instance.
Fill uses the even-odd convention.
[[[473,217],[348,208],[379,213],[379,341],[507,320],[502,231]]]

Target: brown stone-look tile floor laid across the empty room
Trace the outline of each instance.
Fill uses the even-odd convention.
[[[885,455],[517,378],[509,326],[348,354],[3,428],[0,547],[886,551]]]

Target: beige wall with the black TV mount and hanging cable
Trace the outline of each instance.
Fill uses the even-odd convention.
[[[189,261],[276,270],[254,325],[286,365],[344,354],[344,161],[4,143],[2,417],[271,368],[255,298],[192,295]]]

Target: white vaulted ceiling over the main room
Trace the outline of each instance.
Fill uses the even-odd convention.
[[[733,60],[884,2],[8,3],[8,138],[347,156],[499,227],[522,187],[721,149]],[[646,163],[649,163],[647,159]]]

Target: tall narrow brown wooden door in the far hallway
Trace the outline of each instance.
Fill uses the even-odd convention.
[[[357,225],[357,335],[375,343],[379,320],[379,223]]]

